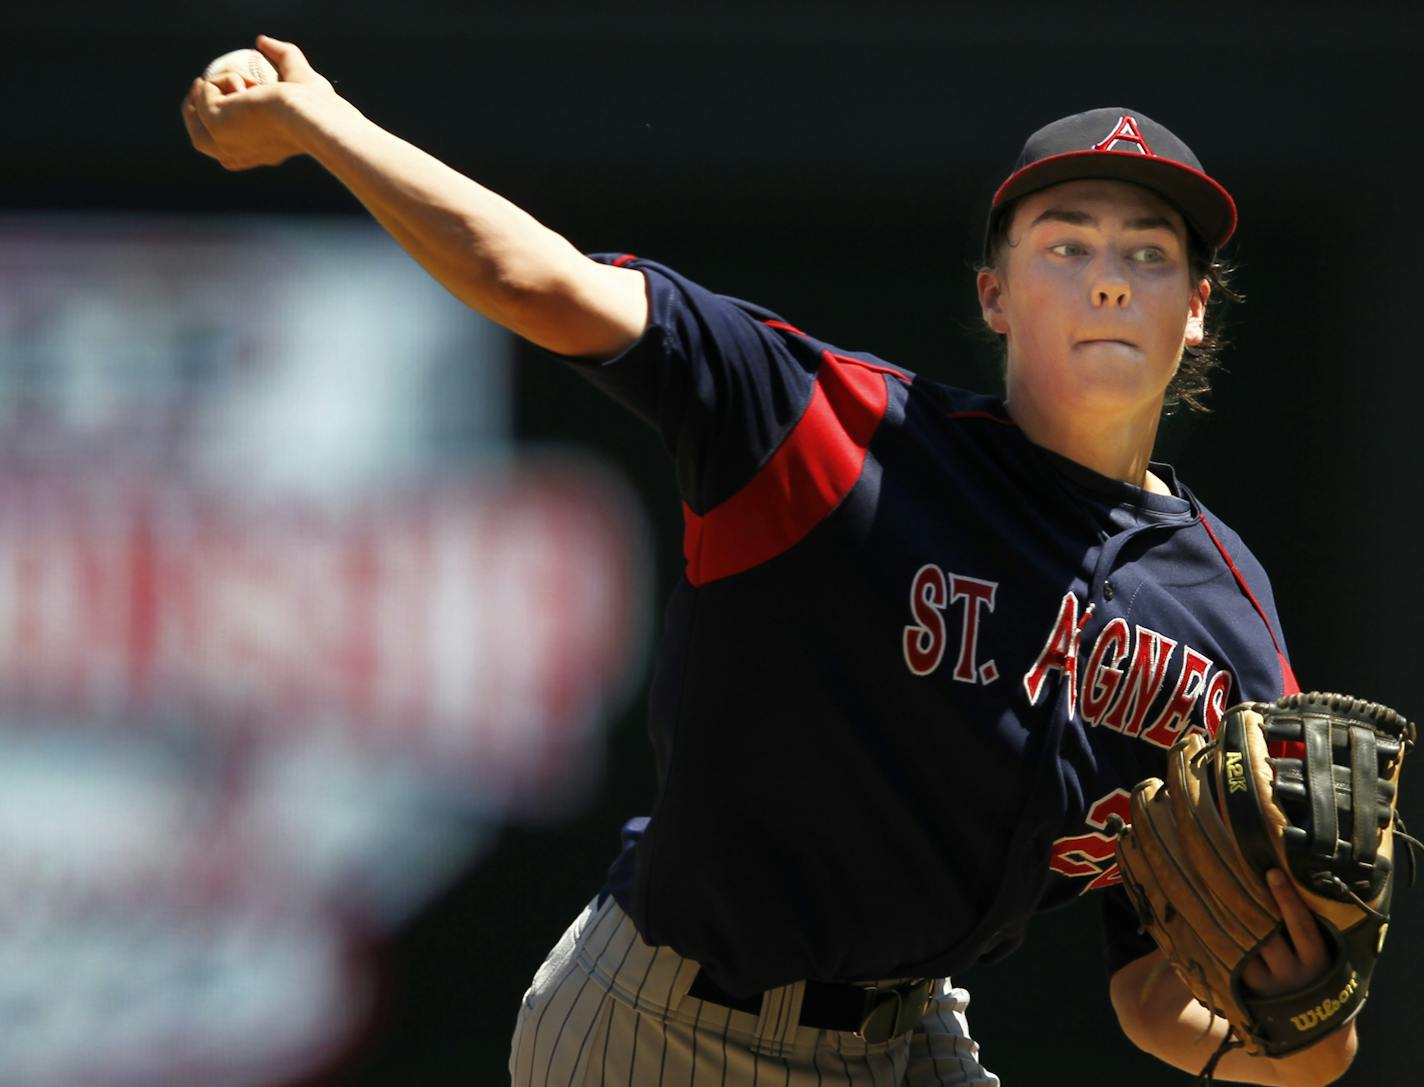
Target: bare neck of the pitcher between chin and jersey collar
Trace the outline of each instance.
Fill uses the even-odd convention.
[[[1163,483],[1148,472],[1156,443],[1162,402],[1136,410],[1064,412],[1061,405],[1044,405],[1024,390],[1010,390],[1008,413],[1037,446],[1089,467],[1099,476],[1135,487],[1165,493]]]

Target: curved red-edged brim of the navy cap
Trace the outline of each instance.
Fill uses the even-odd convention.
[[[1027,184],[1030,178],[1032,184]],[[1062,181],[1095,178],[1134,181],[1166,197],[1183,214],[1193,212],[1185,218],[1198,229],[1202,241],[1213,249],[1220,249],[1236,232],[1236,201],[1218,181],[1200,170],[1193,170],[1171,158],[1143,155],[1136,151],[1064,151],[1058,155],[1040,158],[1037,162],[1030,162],[1022,170],[1010,174],[998,187],[990,207],[998,208],[1011,199]],[[1153,184],[1172,181],[1179,184]]]

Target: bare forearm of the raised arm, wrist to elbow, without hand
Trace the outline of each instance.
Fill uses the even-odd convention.
[[[496,192],[332,94],[292,87],[283,121],[456,298],[565,355],[607,356],[641,332],[642,279],[597,265]]]

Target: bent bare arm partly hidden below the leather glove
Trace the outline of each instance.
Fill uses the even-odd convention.
[[[1226,1037],[1226,1020],[1213,1017],[1196,1002],[1161,953],[1131,963],[1114,976],[1112,1004],[1124,1033],[1138,1049],[1192,1076],[1206,1067]],[[1319,1087],[1344,1074],[1356,1046],[1351,1023],[1289,1057],[1253,1057],[1233,1049],[1216,1066],[1216,1078]]]

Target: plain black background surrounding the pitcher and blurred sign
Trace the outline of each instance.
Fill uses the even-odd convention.
[[[581,248],[655,256],[833,342],[988,389],[970,262],[990,194],[1040,124],[1141,110],[1236,197],[1247,295],[1213,416],[1169,420],[1159,452],[1272,571],[1306,687],[1424,711],[1424,20],[1403,4],[248,0],[27,6],[4,23],[0,209],[359,214],[312,162],[229,175],[188,148],[188,81],[266,31]],[[524,355],[520,436],[627,472],[655,514],[665,588],[679,526],[654,436]],[[641,705],[615,724],[608,766],[587,811],[510,828],[382,949],[380,1023],[332,1081],[506,1077],[528,977],[598,886],[618,823],[649,803]],[[1424,825],[1410,781],[1403,806]],[[1343,1083],[1418,1076],[1421,895],[1397,899]],[[1095,913],[1054,915],[960,979],[985,1063],[1007,1084],[1186,1083],[1112,1024]]]

